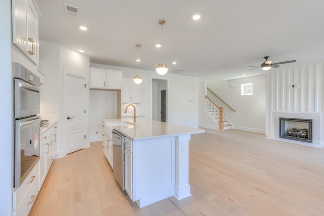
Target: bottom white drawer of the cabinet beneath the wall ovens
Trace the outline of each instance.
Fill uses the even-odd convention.
[[[34,204],[34,201],[38,194],[38,175],[35,177],[34,181],[31,183],[29,190],[23,197],[21,203],[18,205],[17,209],[13,211],[13,216],[24,216],[28,215],[31,206]]]

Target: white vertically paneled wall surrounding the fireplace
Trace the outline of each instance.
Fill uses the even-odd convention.
[[[292,84],[297,85],[297,88],[291,88]],[[322,113],[324,107],[323,84],[324,62],[267,72],[266,135],[273,136],[273,111]],[[323,128],[323,123],[320,126]],[[323,132],[321,133],[323,134]]]

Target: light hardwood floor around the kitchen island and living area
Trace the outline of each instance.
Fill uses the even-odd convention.
[[[324,215],[324,148],[206,129],[189,144],[191,197],[138,208],[101,150],[55,159],[30,215]]]

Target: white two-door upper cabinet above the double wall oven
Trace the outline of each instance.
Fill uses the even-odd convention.
[[[38,65],[38,17],[34,0],[12,0],[13,44],[35,65]]]

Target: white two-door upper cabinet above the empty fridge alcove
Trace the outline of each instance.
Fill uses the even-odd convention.
[[[90,88],[119,90],[123,72],[103,68],[90,68]]]

